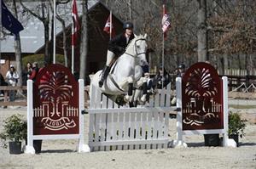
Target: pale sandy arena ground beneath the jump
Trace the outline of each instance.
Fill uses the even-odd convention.
[[[246,118],[246,136],[240,147],[206,147],[203,136],[184,136],[189,145],[182,149],[115,150],[91,153],[76,151],[78,140],[44,140],[39,155],[9,155],[9,149],[0,148],[0,169],[43,168],[256,168],[256,110],[237,110]],[[26,115],[26,107],[0,108],[0,132],[3,120],[13,114]],[[84,116],[85,137],[88,136],[88,115]],[[170,141],[176,138],[176,120],[170,119]],[[88,140],[88,138],[85,138]],[[86,142],[85,140],[85,142]],[[24,144],[24,143],[23,143]]]

